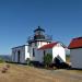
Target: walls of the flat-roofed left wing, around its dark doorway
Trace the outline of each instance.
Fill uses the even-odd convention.
[[[17,51],[20,50],[20,62],[24,63],[25,59],[30,57],[27,46],[20,46],[12,49],[12,61],[17,62]]]

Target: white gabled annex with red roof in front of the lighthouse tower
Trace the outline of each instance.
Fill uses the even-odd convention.
[[[44,55],[50,54],[52,55],[52,62],[55,58],[58,58],[60,62],[66,62],[66,49],[61,43],[50,43],[47,45],[42,46],[39,49],[39,60],[43,62]]]

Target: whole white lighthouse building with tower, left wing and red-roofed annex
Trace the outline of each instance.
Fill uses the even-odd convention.
[[[34,36],[28,37],[27,44],[28,45],[12,48],[13,62],[25,63],[27,58],[32,61],[43,62],[44,52],[50,52],[52,60],[55,57],[58,57],[60,61],[66,61],[63,45],[60,43],[51,43],[51,37],[45,35],[45,30],[39,26],[34,31]]]

